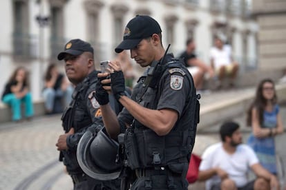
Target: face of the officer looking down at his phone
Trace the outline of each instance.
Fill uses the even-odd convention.
[[[131,58],[141,67],[146,67],[155,59],[155,51],[151,42],[151,38],[143,39],[140,43],[130,50]]]

